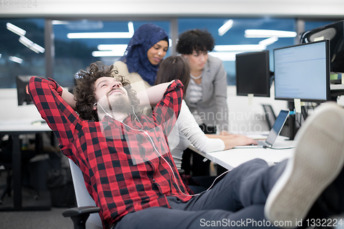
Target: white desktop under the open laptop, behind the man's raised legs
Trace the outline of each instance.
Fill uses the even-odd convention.
[[[288,138],[279,136],[273,146],[273,148],[289,148],[294,147],[296,142],[289,141]],[[232,170],[233,168],[253,160],[260,158],[268,162],[268,164],[274,164],[274,162],[281,162],[288,159],[294,153],[294,149],[264,149],[264,148],[250,148],[250,149],[228,149],[226,151],[217,151],[211,153],[202,153],[197,151],[193,146],[189,146],[200,155],[206,157],[208,160],[216,162],[217,164]]]

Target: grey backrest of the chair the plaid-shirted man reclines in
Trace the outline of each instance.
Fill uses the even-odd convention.
[[[84,178],[83,173],[81,173],[80,168],[69,159],[69,166],[70,171],[72,173],[73,178],[73,184],[74,184],[74,190],[75,190],[75,196],[76,196],[76,204],[78,204],[78,207],[82,206],[96,206],[96,202],[94,202],[94,199],[89,195]],[[100,220],[100,217],[98,214],[91,214],[89,215],[89,218],[86,222],[86,229],[102,229],[103,223]]]

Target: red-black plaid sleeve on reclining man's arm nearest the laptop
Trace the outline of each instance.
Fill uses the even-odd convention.
[[[166,136],[171,133],[177,120],[184,94],[184,85],[180,80],[175,80],[167,87],[164,97],[153,110],[153,118],[156,124],[161,125]]]

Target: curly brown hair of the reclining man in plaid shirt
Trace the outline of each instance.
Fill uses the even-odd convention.
[[[126,80],[124,76],[118,75],[118,71],[114,69],[114,65],[107,66],[98,61],[76,74],[76,87],[74,87],[74,96],[76,100],[75,111],[80,118],[84,120],[99,121],[98,112],[93,109],[94,104],[97,102],[96,94],[94,94],[96,90],[94,88],[94,83],[101,77],[114,77],[120,81],[123,87],[127,89],[129,100],[134,110],[139,112],[138,105],[140,104],[140,100],[137,97],[136,91],[131,89],[129,80]]]

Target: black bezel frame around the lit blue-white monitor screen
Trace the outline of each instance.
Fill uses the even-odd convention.
[[[291,45],[288,47],[279,47],[277,49],[274,49],[274,69],[276,67],[276,61],[275,61],[275,50],[283,50],[283,49],[288,49],[291,47],[298,47],[298,46],[303,46],[303,45],[312,45],[314,43],[325,43],[325,49],[326,49],[326,99],[310,99],[310,98],[283,98],[283,97],[276,97],[276,70],[275,72],[275,100],[286,100],[286,101],[294,101],[294,99],[300,99],[301,102],[325,102],[330,100],[330,40],[325,39],[322,41],[314,41],[310,43],[302,43],[299,45]]]

